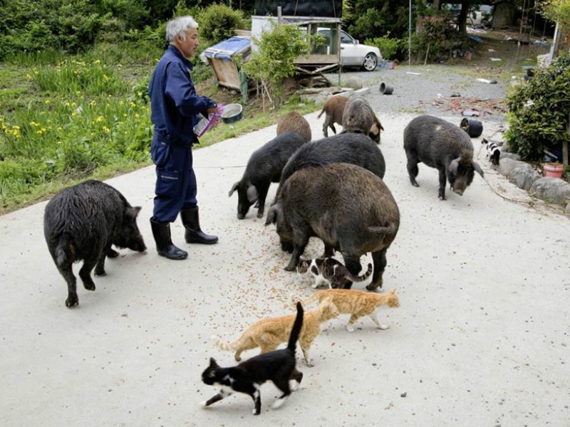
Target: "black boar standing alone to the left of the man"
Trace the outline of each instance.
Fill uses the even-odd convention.
[[[139,211],[112,186],[93,180],[63,189],[48,202],[43,234],[67,282],[67,307],[79,303],[73,262],[83,260],[79,277],[87,290],[95,290],[91,270],[95,267],[95,275],[105,275],[105,256],[118,255],[111,245],[146,251],[136,221]]]

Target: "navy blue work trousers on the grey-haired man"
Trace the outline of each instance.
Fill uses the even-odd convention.
[[[174,222],[180,209],[197,207],[192,147],[190,144],[161,142],[155,138],[150,154],[156,165],[153,218],[159,222]]]

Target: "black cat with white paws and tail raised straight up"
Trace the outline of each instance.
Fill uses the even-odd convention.
[[[289,343],[284,349],[259,354],[231,368],[220,367],[211,357],[209,367],[202,372],[202,381],[209,386],[222,387],[218,394],[202,402],[202,405],[215,404],[233,394],[234,391],[238,391],[252,396],[255,405],[253,413],[259,415],[261,413],[261,384],[273,381],[273,384],[283,391],[283,394],[273,404],[274,408],[279,408],[289,397],[291,390],[299,388],[301,379],[303,379],[303,373],[296,369],[295,358],[296,342],[303,326],[303,312],[301,302],[297,302],[297,315],[291,329]],[[293,388],[289,381],[294,384]]]

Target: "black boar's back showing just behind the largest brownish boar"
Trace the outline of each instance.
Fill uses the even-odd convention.
[[[284,181],[299,169],[331,163],[351,163],[384,177],[384,156],[372,139],[362,134],[339,134],[299,148],[283,168],[277,194]]]

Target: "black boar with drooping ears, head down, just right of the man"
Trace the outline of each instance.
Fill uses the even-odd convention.
[[[279,182],[281,171],[291,154],[306,139],[297,132],[284,132],[255,150],[247,161],[244,175],[229,191],[229,196],[237,190],[237,218],[244,219],[249,207],[257,201],[257,218],[265,211],[265,198],[271,182]]]

